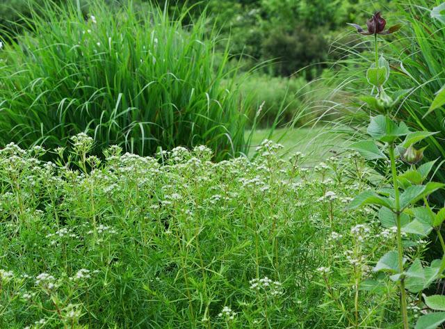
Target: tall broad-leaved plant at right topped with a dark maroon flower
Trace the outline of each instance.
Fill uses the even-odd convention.
[[[382,114],[371,118],[367,130],[370,138],[351,145],[351,148],[360,152],[369,161],[389,161],[391,188],[385,186],[376,193],[371,191],[360,193],[350,202],[349,209],[364,206],[378,207],[382,225],[395,228],[394,249],[380,258],[373,271],[387,273],[389,279],[398,284],[403,328],[408,329],[412,321],[408,314],[408,296],[410,294],[420,296],[432,282],[443,277],[445,256],[424,267],[420,258],[407,257],[407,246],[416,246],[421,237],[428,236],[435,230],[445,255],[445,243],[440,232],[445,220],[445,208],[434,209],[428,203],[428,195],[444,188],[445,184],[428,182],[435,161],[417,166],[423,158],[423,149],[416,150],[414,145],[435,133],[413,131],[405,125],[405,122],[396,122],[391,118],[391,112],[405,97],[407,90],[398,91],[390,97],[383,88],[389,78],[389,63],[383,56],[380,58],[378,56],[378,35],[394,33],[400,27],[393,26],[384,31],[385,24],[386,21],[380,13],[375,13],[369,20],[367,32],[357,24],[352,24],[362,35],[375,35],[375,63],[369,68],[367,78],[377,93],[375,96],[362,97],[362,100],[367,106]],[[405,166],[407,168],[403,170]],[[428,309],[445,310],[445,296],[423,295],[423,297]],[[416,322],[416,329],[437,328],[445,322],[445,312],[426,313]]]

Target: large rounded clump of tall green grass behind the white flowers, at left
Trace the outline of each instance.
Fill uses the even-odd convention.
[[[218,159],[245,151],[236,69],[227,48],[216,53],[204,17],[184,26],[187,13],[172,19],[155,6],[89,8],[85,17],[75,3],[47,3],[30,33],[3,40],[0,144],[65,145],[83,131],[97,149],[205,144]]]

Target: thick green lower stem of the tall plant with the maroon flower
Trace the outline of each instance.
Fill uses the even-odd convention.
[[[391,159],[391,173],[394,184],[394,202],[396,211],[397,223],[397,251],[398,251],[398,271],[401,274],[400,289],[401,289],[401,314],[403,319],[403,328],[409,329],[408,312],[406,303],[405,278],[403,277],[403,246],[402,246],[402,230],[401,230],[401,205],[400,205],[400,191],[398,191],[397,182],[397,168],[396,157],[394,155],[394,144],[389,145],[389,159]]]

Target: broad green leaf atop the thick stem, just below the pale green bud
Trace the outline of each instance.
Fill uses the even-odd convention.
[[[377,115],[371,118],[368,134],[382,142],[394,142],[398,137],[410,134],[410,130],[404,122],[397,125],[385,115]]]

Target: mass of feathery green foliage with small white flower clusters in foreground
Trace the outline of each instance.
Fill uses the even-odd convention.
[[[373,239],[349,232],[369,217],[344,211],[369,179],[355,156],[309,171],[270,141],[253,162],[115,146],[101,162],[92,147],[74,136],[57,164],[41,147],[0,150],[1,328],[346,328],[355,267],[343,252],[359,243],[365,268],[391,245],[375,223]],[[325,304],[319,266],[332,266],[346,316]],[[364,326],[390,321],[385,298],[360,295]]]

